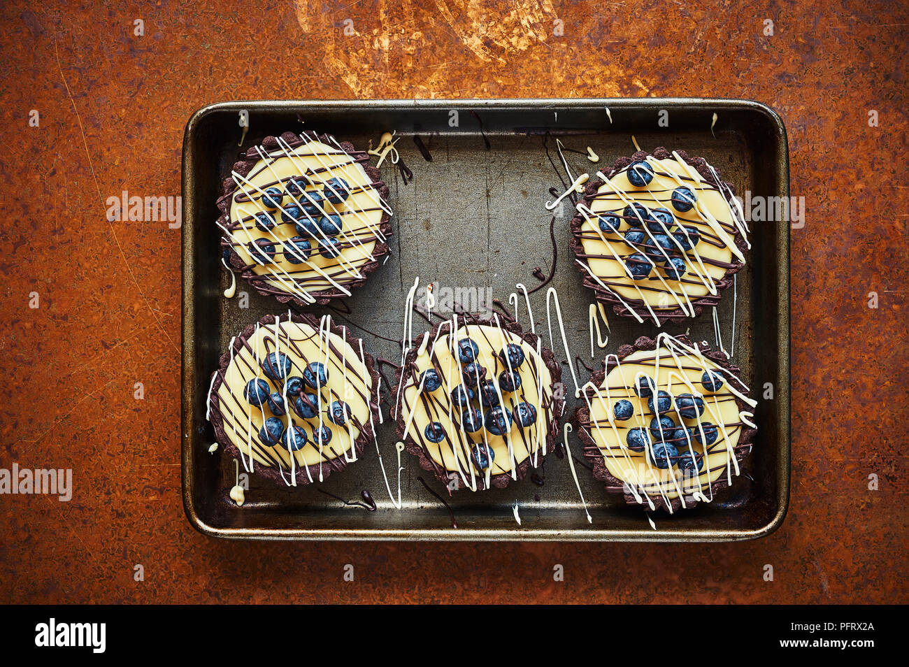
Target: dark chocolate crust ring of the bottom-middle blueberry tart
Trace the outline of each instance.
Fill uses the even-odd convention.
[[[392,398],[392,396],[394,396],[394,397],[398,396],[398,393],[403,389],[403,387],[402,387],[403,383],[407,383],[411,379],[414,379],[415,370],[416,370],[415,360],[416,360],[416,356],[417,356],[417,351],[419,350],[420,345],[424,340],[424,337],[429,336],[430,341],[435,341],[436,336],[439,333],[439,329],[442,326],[445,326],[446,322],[450,322],[450,320],[443,320],[441,322],[435,323],[429,332],[421,333],[419,336],[417,336],[415,338],[413,346],[411,347],[410,351],[405,356],[404,364],[401,366],[401,368],[399,368],[397,371],[395,371],[395,388],[394,388],[394,392],[393,392],[393,394],[391,394],[389,400],[394,400],[394,398]],[[481,319],[481,318],[472,317],[472,316],[462,316],[462,315],[458,316],[458,326],[459,327],[470,325],[470,324],[487,325],[487,326],[501,326],[504,329],[504,331],[507,331],[509,333],[514,333],[519,338],[521,338],[521,340],[523,340],[525,343],[530,345],[534,349],[534,351],[536,350],[536,342],[537,342],[538,336],[535,333],[524,332],[524,330],[521,328],[521,325],[517,324],[515,322],[504,322],[504,321],[500,320],[496,324],[494,319],[491,319],[491,318],[490,319]],[[549,370],[550,377],[552,378],[552,384],[550,386],[554,387],[556,384],[562,382],[562,368],[555,361],[555,356],[554,356],[552,350],[550,350],[549,348],[541,345],[540,354],[543,357],[543,363],[545,364],[546,368]],[[558,393],[554,392],[553,400],[552,400],[552,410],[551,410],[552,419],[550,420],[550,422],[548,424],[548,428],[546,429],[546,451],[547,452],[551,452],[553,450],[556,439],[558,438],[559,417],[562,414],[563,409],[564,409],[564,398],[560,397],[558,395]],[[537,417],[538,419],[543,418],[542,412],[543,412],[542,410],[539,411],[539,415]],[[435,479],[437,479],[439,482],[441,482],[447,486],[448,483],[451,481],[449,475],[454,473],[454,471],[447,471],[444,466],[440,465],[439,463],[435,463],[435,461],[433,460],[433,457],[424,449],[423,446],[421,446],[420,443],[417,443],[415,441],[413,435],[408,434],[405,439],[404,431],[405,431],[404,414],[403,414],[403,411],[399,411],[398,418],[397,418],[397,428],[395,430],[395,435],[397,436],[398,441],[403,441],[405,443],[405,449],[406,449],[407,453],[413,454],[414,456],[416,456],[419,459],[421,468],[423,468],[426,471],[432,471],[432,473],[435,475]],[[539,460],[541,462],[544,460],[544,455],[543,455],[542,451],[539,454]],[[527,474],[527,470],[528,470],[528,468],[530,468],[530,463],[531,463],[530,456],[528,456],[526,459],[524,459],[524,461],[517,463],[516,474],[517,474],[518,480],[524,480],[524,477]],[[485,478],[483,475],[477,475],[476,481],[477,481],[477,491],[482,491],[486,488],[485,487]],[[504,487],[506,487],[508,485],[508,483],[511,481],[512,481],[511,473],[498,473],[498,474],[490,475],[490,478],[489,478],[490,486],[497,488],[497,489],[504,489]],[[448,488],[449,488],[449,493],[450,493],[451,487],[448,487]],[[463,487],[462,485],[458,484],[455,487],[455,490],[460,490],[461,488],[469,488],[469,487]]]

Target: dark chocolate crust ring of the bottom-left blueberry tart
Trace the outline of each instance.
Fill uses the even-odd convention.
[[[315,317],[315,315],[294,313],[291,314],[289,318],[286,315],[281,316],[281,322],[288,321],[299,324],[309,324],[316,332],[319,331],[319,320]],[[265,317],[259,320],[258,323],[250,324],[247,326],[243,330],[243,333],[240,333],[240,335],[235,338],[233,350],[234,354],[239,353],[240,350],[245,347],[246,341],[249,339],[249,337],[255,333],[255,324],[258,324],[260,327],[274,326],[275,315],[265,315]],[[359,350],[360,339],[352,336],[349,330],[343,329],[333,322],[329,331],[343,338],[345,342],[349,344],[355,351]],[[379,405],[381,403],[381,394],[379,392],[379,373],[375,368],[375,359],[370,354],[365,352],[364,359],[366,371],[369,373],[369,376],[372,379],[373,383],[372,395],[369,399],[369,410],[370,413],[372,413],[372,420],[367,419],[365,420],[365,423],[357,424],[360,433],[354,442],[353,448],[356,452],[357,458],[359,458],[363,453],[365,444],[374,438],[373,423],[377,422],[379,419]],[[235,459],[242,461],[243,454],[240,452],[239,448],[230,441],[230,439],[227,437],[227,433],[225,433],[224,417],[221,413],[220,399],[218,396],[218,390],[225,382],[225,371],[227,370],[227,365],[230,363],[230,361],[231,352],[228,350],[221,355],[221,358],[218,362],[218,370],[216,371],[217,374],[215,376],[215,381],[212,383],[211,392],[208,394],[208,401],[211,406],[209,414],[210,422],[212,423],[212,427],[215,429],[215,440],[217,443],[225,449],[225,452],[229,453]],[[344,471],[347,468],[347,462],[345,461],[344,455],[342,454],[330,461],[314,463],[313,465],[307,467],[298,467],[295,470],[296,483],[308,484],[310,483],[310,478],[312,478],[314,482],[318,482],[320,468],[322,471],[322,478],[325,480],[333,471]],[[271,482],[280,483],[281,485],[285,485],[285,480],[289,479],[290,477],[290,471],[285,470],[284,476],[282,476],[282,472],[277,468],[266,466],[262,463],[255,464],[255,474]]]

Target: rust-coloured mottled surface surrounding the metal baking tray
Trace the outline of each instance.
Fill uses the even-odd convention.
[[[906,5],[26,5],[0,9],[0,467],[72,467],[75,496],[0,496],[0,602],[907,601]],[[180,498],[180,232],[108,223],[104,204],[180,194],[195,108],[648,95],[754,98],[789,131],[807,223],[792,234],[793,484],[779,532],[721,545],[195,533]],[[355,582],[342,582],[347,562]]]

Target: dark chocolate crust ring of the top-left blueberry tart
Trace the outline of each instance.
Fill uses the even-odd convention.
[[[311,141],[319,141],[323,144],[331,145],[334,137],[331,134],[311,134],[307,135],[307,138]],[[300,145],[309,143],[303,139],[299,134],[294,134],[293,132],[285,132],[281,134],[281,139],[290,146],[291,149],[297,148]],[[274,136],[266,136],[262,140],[261,147],[266,151],[275,151],[280,146],[278,141]],[[338,145],[341,146],[341,149],[345,151],[346,154],[349,154],[355,161],[355,163],[360,164],[366,172],[366,175],[369,176],[372,186],[375,188],[376,193],[384,200],[388,199],[388,185],[382,180],[382,174],[379,173],[379,170],[376,169],[372,164],[369,164],[369,154],[365,151],[358,151],[355,149],[354,145],[350,142],[339,142]],[[258,164],[262,157],[256,152],[256,146],[253,146],[246,150],[245,153],[240,154],[237,162],[234,163],[232,167],[233,171],[243,176],[248,175],[255,164]],[[288,302],[293,302],[294,304],[300,307],[311,307],[314,304],[308,304],[300,297],[295,294],[290,294],[284,290],[275,289],[268,281],[263,280],[260,275],[255,274],[253,268],[255,264],[245,264],[240,255],[235,251],[233,245],[231,244],[230,238],[227,237],[224,233],[223,228],[230,229],[231,220],[230,220],[230,208],[231,208],[231,198],[238,190],[238,186],[235,183],[234,179],[230,176],[227,176],[222,182],[222,192],[223,194],[218,197],[216,202],[218,209],[221,211],[221,216],[218,218],[219,230],[221,231],[222,239],[221,244],[225,247],[225,251],[229,254],[228,264],[236,274],[239,274],[247,283],[255,287],[256,292],[259,294],[265,294],[266,296],[274,296],[279,303],[287,304]],[[387,211],[382,212],[382,218],[379,221],[379,224],[376,225],[379,230],[385,235],[385,239],[388,239],[392,235],[392,227],[390,224],[390,215]],[[382,264],[382,258],[388,254],[388,244],[383,242],[381,239],[375,239],[375,249],[372,253],[374,259],[363,264],[359,267],[359,272],[362,277],[354,278],[350,277],[344,281],[344,285],[348,290],[355,290],[358,287],[362,287],[366,284],[366,279],[370,274],[375,273],[375,270]],[[339,281],[340,282],[340,281]],[[347,294],[344,294],[342,291],[336,287],[329,287],[324,290],[319,290],[316,292],[310,293],[313,298],[315,298],[315,304],[325,305],[328,304],[332,299],[344,298]]]

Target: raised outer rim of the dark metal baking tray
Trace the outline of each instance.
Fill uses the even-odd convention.
[[[790,358],[792,333],[790,330],[791,295],[789,272],[791,266],[790,221],[785,220],[784,259],[776,267],[777,287],[780,296],[785,298],[784,308],[777,312],[777,343],[780,345],[780,363],[777,367],[778,377],[784,378],[783,392],[778,388],[776,401],[784,398],[784,418],[779,424],[780,443],[776,465],[777,510],[774,516],[763,526],[755,529],[685,529],[673,530],[661,528],[660,531],[647,530],[614,530],[608,528],[568,528],[553,529],[472,529],[472,528],[355,528],[355,529],[310,529],[310,528],[218,528],[205,523],[197,513],[193,498],[194,484],[192,461],[192,424],[195,417],[193,408],[193,387],[187,384],[186,369],[195,365],[195,345],[191,342],[195,334],[195,311],[187,308],[191,303],[195,275],[187,279],[187,269],[195,265],[195,244],[187,228],[193,228],[195,216],[195,197],[187,197],[195,187],[193,164],[193,138],[199,124],[210,114],[238,112],[240,110],[286,111],[288,107],[306,107],[315,110],[338,111],[363,110],[382,107],[388,110],[426,110],[426,109],[592,109],[609,107],[615,109],[660,109],[669,107],[689,107],[695,109],[720,111],[723,109],[750,110],[763,114],[773,125],[777,134],[774,164],[779,166],[777,179],[778,189],[774,193],[789,197],[789,144],[782,117],[764,103],[751,99],[710,98],[710,97],[621,97],[621,98],[495,98],[495,99],[366,99],[366,100],[233,100],[204,105],[190,115],[185,125],[181,158],[181,195],[184,200],[183,224],[181,225],[181,304],[183,318],[181,324],[181,492],[184,513],[190,525],[199,533],[226,540],[260,540],[260,541],[364,541],[364,542],[648,542],[648,543],[723,543],[744,542],[765,537],[774,533],[785,520],[789,510],[790,479],[792,473],[792,398]],[[255,109],[251,108],[255,107]],[[187,225],[188,223],[188,225]],[[781,240],[778,236],[778,241]]]

